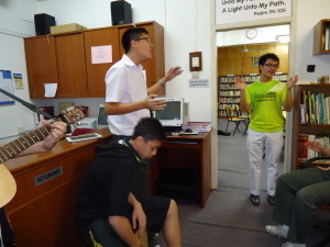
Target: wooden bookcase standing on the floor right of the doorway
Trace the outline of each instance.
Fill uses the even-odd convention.
[[[330,136],[330,83],[299,85],[295,88],[293,169],[319,154],[308,150],[305,143],[319,141],[329,148]],[[321,161],[322,162],[322,161]]]

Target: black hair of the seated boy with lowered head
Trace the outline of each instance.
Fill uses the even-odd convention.
[[[144,117],[141,119],[138,125],[134,127],[133,139],[138,136],[142,136],[144,141],[160,141],[163,142],[166,138],[165,130],[157,119]]]

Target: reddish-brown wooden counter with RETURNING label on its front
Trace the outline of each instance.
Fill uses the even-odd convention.
[[[76,225],[76,197],[80,178],[102,139],[70,144],[61,141],[51,151],[10,159],[4,165],[18,184],[7,212],[19,247],[81,247]]]

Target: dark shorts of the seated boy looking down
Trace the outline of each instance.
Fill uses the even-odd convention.
[[[140,203],[146,215],[147,231],[158,233],[162,231],[168,209],[170,199],[162,197],[145,197]],[[131,222],[131,217],[129,217]],[[84,242],[87,247],[100,246],[103,247],[127,247],[119,236],[116,234],[112,226],[109,224],[108,217],[97,218],[84,231]]]

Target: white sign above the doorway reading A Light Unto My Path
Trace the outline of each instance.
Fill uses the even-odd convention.
[[[292,0],[216,0],[216,23],[290,16],[292,3]]]

